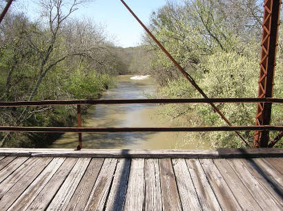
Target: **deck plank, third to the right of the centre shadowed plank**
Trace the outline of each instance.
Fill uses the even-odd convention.
[[[159,159],[163,210],[182,210],[171,159]]]

